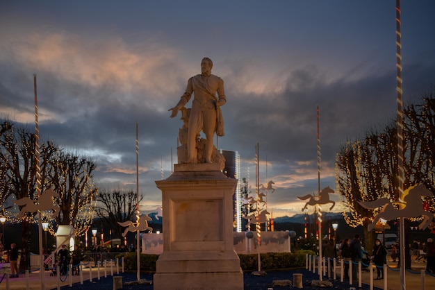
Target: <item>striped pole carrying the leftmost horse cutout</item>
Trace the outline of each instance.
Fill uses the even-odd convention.
[[[36,193],[38,200],[41,196],[41,168],[40,168],[40,131],[38,122],[38,95],[36,92],[36,74],[33,74],[33,87],[35,90],[35,163],[36,163]],[[41,289],[45,289],[44,255],[42,255],[42,215],[38,210],[38,234],[40,244],[40,275]]]

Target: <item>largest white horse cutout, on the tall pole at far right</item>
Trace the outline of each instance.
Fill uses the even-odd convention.
[[[358,203],[368,209],[368,210],[375,210],[377,207],[382,207],[380,212],[375,216],[375,219],[368,225],[368,230],[372,230],[375,228],[375,225],[379,219],[385,219],[386,221],[391,221],[393,219],[397,218],[416,218],[419,216],[424,216],[423,221],[418,225],[418,228],[420,230],[424,230],[427,228],[427,225],[432,221],[434,218],[434,214],[432,212],[423,210],[423,202],[421,197],[429,197],[433,196],[432,191],[427,189],[424,185],[414,185],[412,187],[409,187],[409,189],[404,191],[405,197],[402,203],[405,206],[400,209],[396,210],[394,207],[395,203],[391,203],[391,201],[388,198],[379,198],[376,201],[358,201]]]

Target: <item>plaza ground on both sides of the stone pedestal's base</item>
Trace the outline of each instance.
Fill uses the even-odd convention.
[[[400,289],[400,272],[397,271],[394,267],[397,266],[397,263],[394,265],[391,264],[391,268],[388,269],[388,287],[387,289],[397,290]],[[421,287],[421,276],[420,270],[425,268],[425,263],[413,263],[412,265],[412,273],[407,271],[406,280],[407,280],[407,289],[418,290],[423,289]],[[339,269],[338,269],[339,270]],[[339,273],[340,271],[338,271]],[[51,272],[45,272],[46,278],[46,288],[47,289],[57,289],[58,287],[58,279],[56,277],[50,276]],[[69,286],[69,278],[65,277],[62,279],[64,281],[59,281],[59,288],[62,290],[67,289],[93,289],[98,288],[99,290],[113,289],[113,277],[110,275],[111,271],[108,269],[106,271],[107,277],[104,278],[104,271],[101,269],[100,271],[100,279],[98,280],[97,276],[97,268],[92,268],[92,282],[90,282],[90,275],[88,269],[83,270],[83,284],[80,282],[79,275],[72,276],[72,287]],[[350,287],[355,287],[356,289],[368,290],[370,289],[368,283],[370,281],[370,275],[367,271],[362,273],[362,287],[359,288],[357,282],[354,282],[350,285],[348,282],[340,282],[339,275],[337,275],[337,280],[332,280],[328,278],[323,278],[323,280],[330,281],[333,284],[333,287],[311,287],[309,286],[309,282],[312,280],[318,280],[319,277],[317,274],[312,273],[311,271],[305,269],[298,269],[292,271],[270,271],[265,276],[252,275],[252,273],[245,273],[243,275],[244,282],[244,290],[268,290],[272,288],[274,290],[280,289],[296,289],[295,287],[272,287],[272,282],[274,280],[292,280],[293,281],[293,273],[302,273],[303,275],[303,286],[304,289],[350,289]],[[28,282],[26,280],[25,275],[20,275],[19,278],[10,278],[9,280],[9,289],[40,289],[40,274],[30,273]],[[123,287],[122,289],[145,289],[152,290],[153,286],[151,285],[135,285],[128,286],[125,282],[128,281],[136,281],[137,273],[125,272],[117,274],[116,271],[113,273],[114,276],[122,276]],[[140,279],[145,279],[152,281],[153,273],[141,273]],[[216,285],[218,287],[219,285]],[[383,280],[375,280],[374,281],[374,290],[383,289],[384,282]],[[3,280],[0,283],[0,290],[6,289],[6,280]],[[425,288],[427,290],[435,290],[435,277],[434,275],[425,275]]]

